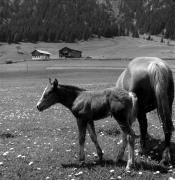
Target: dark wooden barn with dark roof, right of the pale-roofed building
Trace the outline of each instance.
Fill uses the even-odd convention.
[[[68,47],[64,47],[59,50],[59,57],[66,58],[81,58],[82,52],[74,49],[70,49]]]

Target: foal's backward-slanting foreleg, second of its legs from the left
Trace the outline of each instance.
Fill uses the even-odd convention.
[[[103,158],[103,152],[102,152],[102,150],[100,148],[100,145],[99,145],[99,143],[97,141],[97,135],[95,133],[94,122],[93,121],[89,121],[88,124],[87,124],[87,128],[88,128],[91,140],[95,144],[95,147],[97,149],[97,154],[98,154],[99,160],[101,161],[102,158]]]

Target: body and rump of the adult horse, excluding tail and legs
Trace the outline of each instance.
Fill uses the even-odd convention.
[[[174,93],[174,90],[172,87],[174,85],[171,69],[166,62],[157,57],[138,57],[133,59],[119,76],[116,83],[117,87],[122,87],[128,91],[136,93],[140,106],[147,109],[146,111],[150,111],[156,106],[155,92],[150,82],[149,72],[152,64],[160,65],[166,70],[166,72],[168,72],[167,79],[169,82],[167,83],[171,90],[170,99],[173,99],[174,97],[172,94]]]

